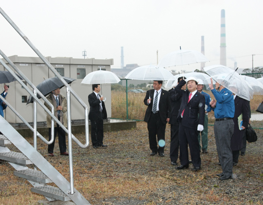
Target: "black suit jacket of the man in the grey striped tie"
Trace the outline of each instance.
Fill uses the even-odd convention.
[[[151,117],[151,114],[152,114],[154,92],[155,92],[154,89],[148,90],[144,98],[144,104],[148,106],[146,109],[145,117],[144,117],[144,121],[146,122],[149,121],[149,118]],[[149,99],[149,96],[151,96],[151,103],[148,105],[147,99]],[[166,124],[166,119],[170,118],[171,104],[170,104],[169,92],[163,89],[161,90],[161,93],[160,93],[159,112],[160,112],[160,118],[161,118],[162,124]]]

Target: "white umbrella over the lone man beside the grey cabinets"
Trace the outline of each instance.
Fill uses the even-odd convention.
[[[110,71],[93,71],[87,74],[82,80],[82,84],[114,84],[119,83],[120,78]]]

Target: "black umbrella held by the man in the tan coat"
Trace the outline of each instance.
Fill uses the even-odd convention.
[[[72,81],[76,80],[70,77],[63,77],[64,80],[67,82],[67,84],[71,84]],[[58,77],[51,77],[46,80],[44,80],[41,84],[37,85],[36,88],[44,95],[47,96],[49,93],[51,93],[53,90],[58,88],[63,88],[64,84]],[[39,94],[37,94],[37,98],[41,98]],[[33,103],[34,98],[30,95],[27,104]]]

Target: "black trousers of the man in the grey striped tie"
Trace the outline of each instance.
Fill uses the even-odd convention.
[[[149,118],[149,121],[147,122],[147,128],[148,128],[148,133],[149,133],[150,149],[153,152],[163,153],[164,147],[158,148],[157,141],[156,141],[156,135],[157,135],[158,141],[160,139],[163,139],[165,141],[164,136],[165,136],[166,124],[162,124],[159,112],[155,114],[152,112],[151,117]]]

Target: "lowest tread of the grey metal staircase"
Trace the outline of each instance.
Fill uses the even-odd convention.
[[[49,185],[32,187],[31,191],[37,194],[42,194],[43,196],[49,197],[51,199],[57,199],[61,201],[70,200],[70,198],[61,189]]]

